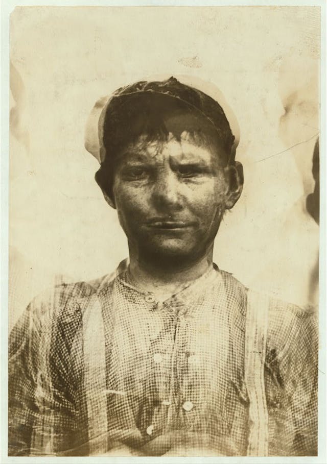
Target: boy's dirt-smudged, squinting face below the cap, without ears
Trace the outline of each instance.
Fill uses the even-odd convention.
[[[141,136],[129,144],[118,155],[113,182],[114,206],[130,249],[163,263],[205,254],[229,196],[226,154],[203,131],[180,132],[181,123],[183,115],[165,121],[167,141]]]

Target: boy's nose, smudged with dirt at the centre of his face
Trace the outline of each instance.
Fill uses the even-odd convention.
[[[180,183],[169,167],[162,169],[157,175],[152,190],[152,202],[159,211],[178,211],[182,208]]]

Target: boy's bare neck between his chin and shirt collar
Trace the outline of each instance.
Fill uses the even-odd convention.
[[[160,265],[159,259],[142,259],[131,247],[129,252],[129,271],[133,282],[144,290],[162,295],[173,294],[178,287],[201,277],[213,264],[213,244],[198,259],[170,267]]]

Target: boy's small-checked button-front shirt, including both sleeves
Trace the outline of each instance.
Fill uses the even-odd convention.
[[[124,266],[36,298],[10,335],[9,455],[246,455],[247,298],[217,266],[163,303]],[[269,455],[317,454],[317,352],[315,315],[270,299]]]

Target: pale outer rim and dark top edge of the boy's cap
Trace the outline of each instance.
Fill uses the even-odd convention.
[[[106,149],[103,144],[104,121],[110,105],[115,106],[117,99],[126,99],[128,95],[136,94],[161,94],[173,97],[184,102],[189,107],[199,111],[214,128],[219,132],[221,119],[226,117],[231,133],[234,137],[228,162],[235,159],[236,148],[240,140],[240,131],[237,118],[227,104],[222,92],[212,84],[205,83],[191,77],[170,77],[162,81],[139,81],[134,84],[121,87],[109,96],[98,100],[92,109],[85,128],[85,148],[99,163],[106,157]],[[197,88],[190,85],[196,81]],[[204,88],[205,91],[198,87]]]

